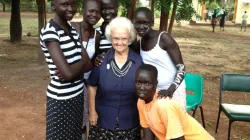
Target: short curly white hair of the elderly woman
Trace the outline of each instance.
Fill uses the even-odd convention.
[[[114,18],[106,27],[105,36],[109,41],[112,41],[112,30],[114,28],[128,29],[129,42],[132,43],[136,38],[135,28],[132,22],[126,17]]]

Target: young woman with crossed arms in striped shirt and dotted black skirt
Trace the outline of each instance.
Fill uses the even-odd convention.
[[[70,20],[76,12],[75,0],[52,0],[53,19],[40,34],[50,73],[46,103],[46,140],[80,140],[82,136],[82,73],[92,63],[79,42]]]

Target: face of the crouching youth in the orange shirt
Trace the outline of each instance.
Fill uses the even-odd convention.
[[[156,91],[157,80],[148,70],[137,70],[135,78],[136,94],[146,103],[153,100]]]

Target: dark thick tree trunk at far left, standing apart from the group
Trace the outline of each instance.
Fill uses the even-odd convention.
[[[19,42],[21,40],[22,40],[22,23],[20,16],[20,0],[12,0],[11,18],[10,18],[10,41]]]

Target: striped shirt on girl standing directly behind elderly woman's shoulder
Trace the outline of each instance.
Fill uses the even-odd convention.
[[[107,52],[110,48],[112,48],[112,43],[107,40],[105,34],[102,33],[101,27],[96,28],[96,30],[101,34],[99,49],[100,53]]]

